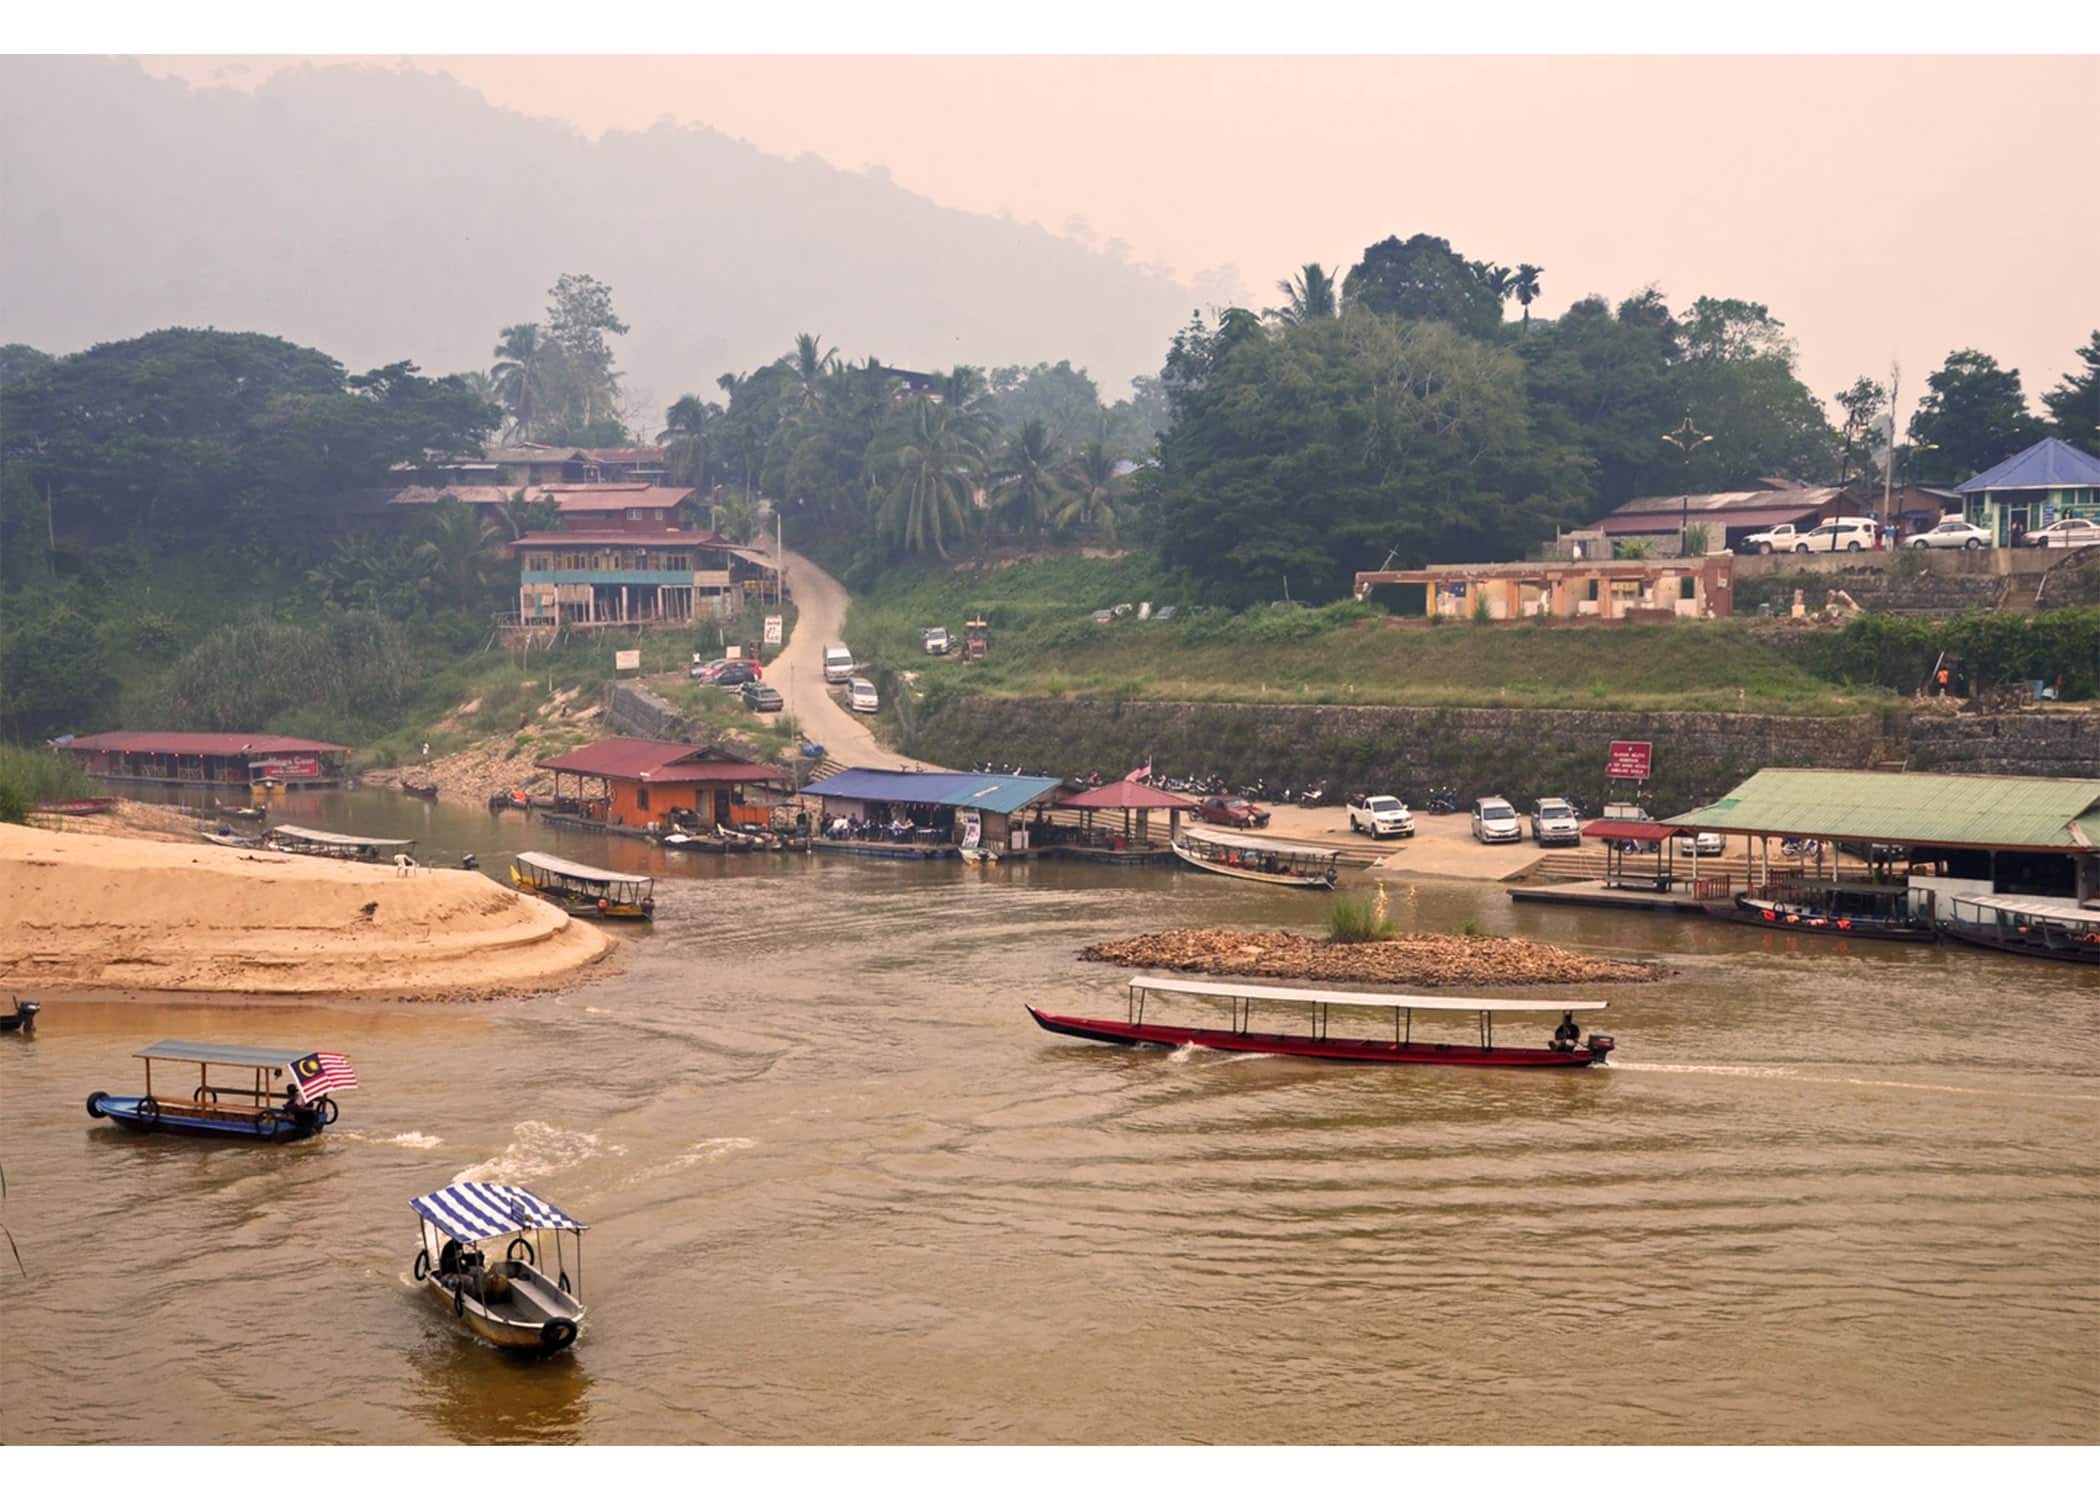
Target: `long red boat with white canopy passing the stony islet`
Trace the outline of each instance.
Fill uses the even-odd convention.
[[[1157,1002],[1174,998],[1226,1000],[1231,1025],[1184,1025],[1157,1019]],[[1155,1019],[1144,1019],[1147,1000],[1155,1002]],[[1254,1006],[1302,1015],[1304,1029],[1254,1029]],[[1386,1011],[1392,1036],[1336,1036],[1336,1008],[1344,1015]],[[1575,1011],[1604,1011],[1602,1000],[1462,1000],[1457,996],[1396,996],[1344,989],[1281,989],[1212,979],[1161,979],[1144,975],[1130,981],[1130,1004],[1121,1021],[1050,1015],[1027,1006],[1035,1025],[1058,1036],[1119,1046],[1208,1046],[1218,1053],[1268,1053],[1275,1057],[1312,1057],[1329,1063],[1430,1063],[1445,1067],[1592,1067],[1611,1057],[1617,1042],[1592,1032],[1579,1038]],[[1478,1038],[1464,1042],[1418,1042],[1415,1011],[1470,1013]],[[1544,1015],[1560,1011],[1562,1027],[1552,1046],[1497,1046],[1495,1013]],[[1571,1036],[1573,1034],[1573,1036]]]

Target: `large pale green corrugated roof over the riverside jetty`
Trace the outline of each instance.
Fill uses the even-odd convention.
[[[1917,771],[1758,771],[1672,828],[1856,838],[1884,845],[2090,849],[2100,845],[2100,782]],[[2073,830],[2083,832],[2083,838]]]

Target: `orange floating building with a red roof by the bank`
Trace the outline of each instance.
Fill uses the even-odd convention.
[[[554,805],[605,832],[766,828],[788,773],[670,739],[598,739],[533,761],[554,773]],[[567,779],[565,777],[573,777]],[[550,815],[561,817],[561,815]]]

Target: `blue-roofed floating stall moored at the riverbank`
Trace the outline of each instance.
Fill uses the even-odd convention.
[[[1063,786],[1054,775],[853,769],[802,790],[823,805],[815,847],[947,859],[964,847],[1027,851],[1027,824],[1048,819]]]

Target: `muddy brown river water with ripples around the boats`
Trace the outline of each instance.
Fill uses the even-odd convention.
[[[1611,1069],[1121,1050],[1021,1006],[1119,1015],[1084,943],[1321,899],[284,815],[653,868],[659,920],[561,996],[57,996],[0,1038],[13,1441],[2100,1437],[2090,973],[1394,882],[1409,922],[1676,973],[1581,992]],[[363,1088],[292,1147],[90,1122],[164,1036],[336,1046]],[[594,1225],[571,1357],[412,1290],[407,1200],[466,1174]]]

